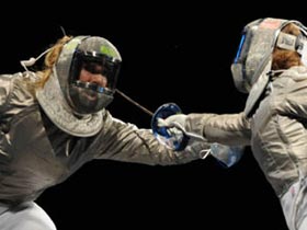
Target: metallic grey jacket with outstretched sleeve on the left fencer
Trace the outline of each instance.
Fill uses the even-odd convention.
[[[73,136],[44,113],[23,78],[22,73],[0,76],[2,204],[34,200],[93,159],[169,165],[196,160],[200,151],[208,148],[207,143],[195,143],[182,152],[171,151],[150,129],[113,118],[107,111],[102,113],[98,134]]]

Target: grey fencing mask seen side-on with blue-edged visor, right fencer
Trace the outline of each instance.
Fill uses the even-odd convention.
[[[281,33],[281,30],[288,23],[296,24],[302,32],[302,36],[296,37]],[[305,37],[306,27],[297,21],[268,18],[255,20],[246,25],[237,55],[231,65],[236,88],[243,93],[250,91],[264,69],[268,69],[265,67],[271,65],[271,56],[275,44],[280,48],[298,51],[302,59],[305,59]]]

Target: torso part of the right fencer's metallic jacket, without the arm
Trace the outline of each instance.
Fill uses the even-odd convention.
[[[252,150],[281,197],[307,176],[307,68],[293,67],[268,88],[251,119]]]

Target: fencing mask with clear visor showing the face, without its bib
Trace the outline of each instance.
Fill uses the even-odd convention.
[[[65,45],[57,62],[58,80],[68,104],[77,114],[92,114],[106,107],[113,100],[121,56],[102,37],[76,37]],[[80,79],[81,72],[103,78],[105,85]]]

